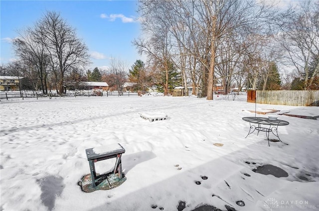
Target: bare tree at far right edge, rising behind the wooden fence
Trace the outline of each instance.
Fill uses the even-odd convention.
[[[304,79],[304,89],[310,89],[319,75],[319,63],[313,71],[310,64],[319,54],[319,2],[301,1],[299,11],[292,13],[282,26],[282,46],[291,62]]]

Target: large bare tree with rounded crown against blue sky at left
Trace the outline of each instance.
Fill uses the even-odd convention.
[[[75,29],[69,26],[59,13],[48,11],[36,23],[35,30],[44,38],[43,43],[58,80],[58,91],[63,94],[65,73],[72,68],[84,68],[89,64],[88,48],[77,38]]]

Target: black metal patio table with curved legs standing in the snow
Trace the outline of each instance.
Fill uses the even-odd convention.
[[[258,131],[257,135],[259,134],[260,131],[266,132],[266,137],[268,139],[268,146],[270,146],[269,132],[272,132],[280,140],[279,135],[278,135],[278,126],[284,126],[284,125],[289,124],[289,122],[285,121],[285,120],[281,120],[281,119],[271,120],[271,119],[266,118],[266,117],[249,116],[249,117],[243,117],[243,120],[249,122],[250,128],[249,128],[249,132],[248,132],[247,136],[250,135],[251,133],[253,133],[255,130]],[[258,126],[254,125],[254,124],[257,124]],[[269,127],[268,126],[266,127],[263,125],[269,125]],[[245,138],[247,138],[247,136]],[[282,142],[282,140],[280,140],[280,141]],[[282,143],[284,143],[284,142],[282,142]],[[284,143],[284,144],[286,144],[286,143]]]

